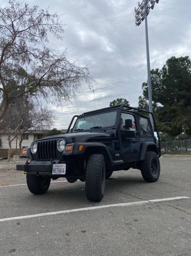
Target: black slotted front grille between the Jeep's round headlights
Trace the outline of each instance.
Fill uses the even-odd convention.
[[[56,159],[57,141],[40,141],[37,146],[39,160],[52,160]]]

